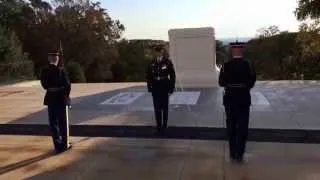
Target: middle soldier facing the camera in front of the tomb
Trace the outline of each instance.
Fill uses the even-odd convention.
[[[163,46],[155,48],[156,58],[148,66],[147,86],[152,93],[158,132],[168,125],[169,96],[175,89],[176,75],[168,52]]]

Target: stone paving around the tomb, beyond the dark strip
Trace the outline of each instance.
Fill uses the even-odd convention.
[[[4,86],[0,123],[48,124],[41,87]],[[22,91],[22,92],[21,92]],[[184,88],[200,92],[196,104],[171,104],[169,126],[225,127],[221,88]],[[125,105],[101,104],[119,93],[143,93]],[[74,84],[70,124],[154,125],[152,98],[145,83]],[[318,81],[261,81],[252,90],[250,128],[320,129]]]

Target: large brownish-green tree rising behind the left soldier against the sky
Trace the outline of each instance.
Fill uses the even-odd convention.
[[[62,42],[64,63],[77,62],[89,82],[112,79],[111,65],[118,58],[116,44],[124,26],[111,19],[98,2],[56,0],[52,4],[43,0],[0,3],[0,10],[8,11],[9,6],[14,10],[1,11],[6,18],[0,23],[17,33],[35,63],[36,74],[47,64],[47,52],[57,50]]]

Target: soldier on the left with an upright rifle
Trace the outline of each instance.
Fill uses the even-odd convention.
[[[44,105],[48,106],[49,125],[54,148],[57,153],[60,153],[71,148],[68,142],[67,108],[67,105],[70,104],[71,84],[65,71],[58,67],[59,53],[48,53],[48,61],[48,67],[41,72],[41,85],[47,91]]]

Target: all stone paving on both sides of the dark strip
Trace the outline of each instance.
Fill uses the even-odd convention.
[[[172,100],[170,126],[224,127],[221,89],[185,92]],[[319,82],[258,82],[252,94],[251,128],[320,130]],[[43,95],[36,82],[0,86],[0,125],[47,124]],[[75,84],[71,96],[71,124],[154,125],[144,83]],[[107,137],[71,141],[71,151],[53,155],[50,137],[0,135],[0,180],[320,179],[317,144],[249,142],[248,162],[235,165],[228,160],[226,141]]]

